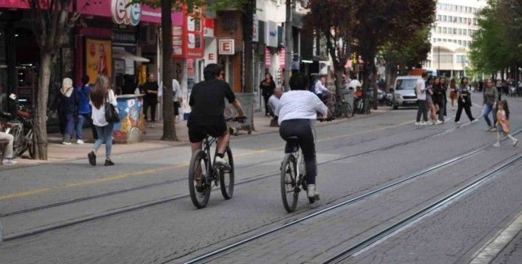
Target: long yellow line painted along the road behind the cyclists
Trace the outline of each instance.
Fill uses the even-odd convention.
[[[385,130],[385,129],[393,129],[395,127],[404,126],[405,124],[410,124],[410,123],[412,123],[412,122],[408,121],[408,122],[402,122],[400,124],[394,124],[392,126],[383,126],[383,127],[379,128],[379,129],[371,129],[369,131],[359,131],[359,132],[356,132],[356,133],[349,133],[349,134],[345,134],[345,135],[336,135],[336,136],[329,137],[329,138],[322,138],[320,140],[317,140],[317,142],[324,142],[324,141],[328,141],[328,140],[335,140],[335,139],[339,139],[339,138],[346,138],[346,137],[349,137],[351,135],[358,135],[358,134],[362,134],[362,133],[368,133],[370,131],[381,131],[381,130]],[[259,150],[255,150],[255,151],[248,151],[248,152],[245,152],[245,153],[242,153],[242,154],[237,154],[237,155],[234,155],[234,156],[235,157],[251,156],[253,154],[260,154],[260,153],[267,152],[267,151],[274,151],[274,150],[278,150],[278,149],[283,149],[283,147],[284,146],[273,147],[273,148],[269,148],[269,149],[259,149]],[[74,188],[74,187],[80,187],[80,186],[85,186],[85,185],[93,185],[93,184],[97,184],[97,183],[103,183],[103,182],[106,182],[106,181],[116,181],[116,180],[120,180],[120,179],[126,179],[126,178],[129,178],[129,177],[132,177],[132,176],[142,176],[142,175],[146,175],[146,174],[152,174],[152,173],[155,173],[155,172],[163,172],[163,171],[166,171],[166,170],[173,170],[173,169],[180,168],[180,167],[189,167],[189,164],[185,163],[185,164],[179,164],[179,165],[169,165],[169,166],[163,166],[163,167],[153,167],[153,168],[150,168],[150,169],[147,169],[147,170],[140,170],[140,171],[137,171],[137,172],[125,172],[125,173],[122,173],[122,174],[116,174],[116,175],[113,175],[113,176],[104,177],[104,178],[100,178],[100,179],[89,180],[89,181],[79,181],[79,182],[76,182],[76,183],[68,183],[68,184],[64,184],[64,185],[57,185],[57,186],[54,186],[54,187],[33,189],[33,190],[27,190],[27,191],[24,191],[24,192],[14,192],[12,194],[0,196],[0,200],[19,198],[19,197],[26,197],[26,196],[29,196],[29,195],[35,195],[37,193],[49,192],[49,191],[58,190],[58,189],[66,189],[66,188]]]

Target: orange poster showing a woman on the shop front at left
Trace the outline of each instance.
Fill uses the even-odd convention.
[[[98,75],[112,74],[112,43],[111,40],[85,40],[86,72],[90,82],[95,83]]]

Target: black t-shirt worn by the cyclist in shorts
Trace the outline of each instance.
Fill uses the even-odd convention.
[[[225,99],[232,104],[236,97],[230,85],[224,81],[214,79],[194,85],[189,99],[192,110],[188,125],[211,125],[223,122]]]

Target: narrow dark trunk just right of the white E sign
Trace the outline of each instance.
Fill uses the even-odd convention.
[[[255,0],[249,0],[245,5],[243,13],[243,40],[244,40],[244,83],[243,92],[254,92],[253,89],[253,44],[252,28]]]

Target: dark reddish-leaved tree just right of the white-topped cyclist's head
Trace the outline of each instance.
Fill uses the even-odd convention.
[[[356,26],[356,0],[311,0],[305,21],[309,28],[326,40],[326,48],[335,71],[335,94],[340,95],[342,75],[351,54]]]

